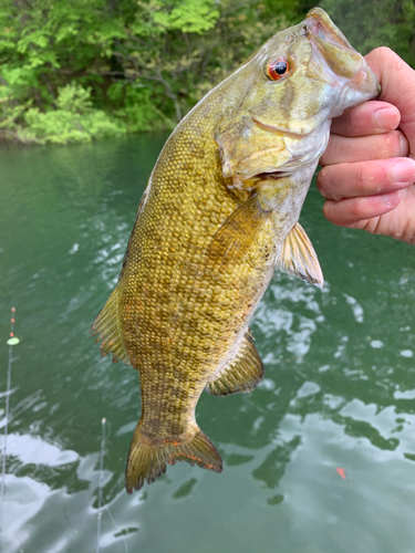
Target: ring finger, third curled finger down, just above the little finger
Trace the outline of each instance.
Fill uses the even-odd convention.
[[[415,160],[408,157],[329,165],[321,169],[317,178],[320,194],[336,201],[391,192],[413,182]]]

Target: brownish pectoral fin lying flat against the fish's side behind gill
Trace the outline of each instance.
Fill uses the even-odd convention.
[[[222,265],[245,255],[269,213],[256,194],[248,198],[216,232],[207,250],[208,258],[215,265]]]

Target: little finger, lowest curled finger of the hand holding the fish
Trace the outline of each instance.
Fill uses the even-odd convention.
[[[323,206],[323,213],[333,225],[359,227],[362,221],[380,217],[395,209],[401,201],[401,190],[396,190],[366,198],[347,198],[341,201],[326,200]]]

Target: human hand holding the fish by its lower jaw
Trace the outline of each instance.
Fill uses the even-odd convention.
[[[323,213],[415,244],[415,71],[387,48],[365,59],[382,92],[333,119],[318,176]]]

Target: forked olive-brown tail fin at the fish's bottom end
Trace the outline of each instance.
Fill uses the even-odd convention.
[[[141,424],[135,429],[129,447],[125,488],[128,493],[139,490],[144,482],[152,483],[166,472],[166,463],[176,461],[195,463],[203,469],[221,472],[222,460],[209,438],[196,425],[194,437],[185,444],[165,442],[152,445],[143,440]]]

